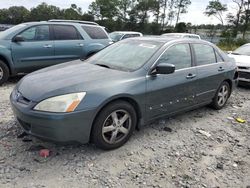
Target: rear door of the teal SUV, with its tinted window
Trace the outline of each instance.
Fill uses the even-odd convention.
[[[81,59],[85,41],[73,25],[53,25],[56,63]]]

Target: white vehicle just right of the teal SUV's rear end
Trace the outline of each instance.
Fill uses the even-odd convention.
[[[113,42],[117,42],[123,39],[132,38],[132,37],[142,37],[142,33],[134,31],[114,31],[109,34],[109,37]]]

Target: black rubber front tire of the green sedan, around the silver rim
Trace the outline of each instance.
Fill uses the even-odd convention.
[[[106,120],[106,118],[112,112],[114,112],[116,110],[126,110],[131,116],[132,124],[131,124],[130,131],[129,131],[128,135],[126,136],[126,138],[124,138],[119,143],[109,144],[102,137],[102,126],[103,126],[103,123]],[[104,149],[104,150],[111,150],[111,149],[119,148],[129,140],[129,138],[131,137],[131,135],[133,134],[133,132],[135,130],[136,124],[137,124],[137,116],[136,116],[136,112],[135,112],[135,109],[133,108],[133,106],[125,101],[115,101],[115,102],[109,104],[108,106],[106,106],[98,114],[98,116],[93,124],[93,129],[92,129],[92,133],[91,133],[91,141],[97,147]]]

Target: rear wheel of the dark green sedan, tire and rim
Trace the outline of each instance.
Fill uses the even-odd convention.
[[[231,88],[229,83],[226,81],[222,82],[222,84],[220,85],[219,89],[215,94],[215,97],[213,98],[211,106],[216,110],[222,109],[226,105],[230,93],[231,93]]]

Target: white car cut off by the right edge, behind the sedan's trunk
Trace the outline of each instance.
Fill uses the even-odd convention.
[[[245,44],[233,52],[229,52],[229,57],[234,58],[238,66],[239,84],[250,83],[250,43]]]

